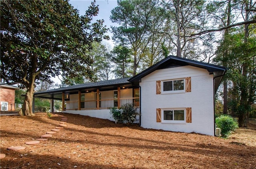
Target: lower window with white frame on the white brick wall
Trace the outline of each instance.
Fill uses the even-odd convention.
[[[162,109],[162,122],[185,122],[185,109]]]

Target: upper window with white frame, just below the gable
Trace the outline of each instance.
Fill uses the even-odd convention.
[[[184,91],[184,79],[168,80],[163,82],[163,92]]]

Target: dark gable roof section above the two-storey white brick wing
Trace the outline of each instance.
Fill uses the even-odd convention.
[[[154,72],[155,70],[174,68],[179,66],[195,66],[198,68],[206,69],[209,72],[209,74],[214,74],[214,79],[215,79],[214,91],[215,92],[217,91],[218,86],[220,85],[222,76],[225,74],[227,70],[223,66],[208,64],[208,63],[180,58],[176,56],[168,56],[167,58],[161,60],[157,64],[154,64],[150,68],[140,72],[136,76],[133,76],[128,81],[131,82],[133,85],[139,85],[139,82],[141,82],[141,78],[147,76],[148,74]]]

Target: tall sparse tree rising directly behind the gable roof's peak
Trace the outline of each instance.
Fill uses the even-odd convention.
[[[176,47],[176,56],[198,59],[202,37],[188,37],[206,25],[204,0],[168,0],[163,2],[169,31],[165,32]]]

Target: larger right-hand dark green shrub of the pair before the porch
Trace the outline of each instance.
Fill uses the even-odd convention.
[[[138,109],[133,107],[132,103],[126,103],[121,107],[122,109],[122,121],[126,123],[128,127],[136,121],[136,116],[139,115]]]

